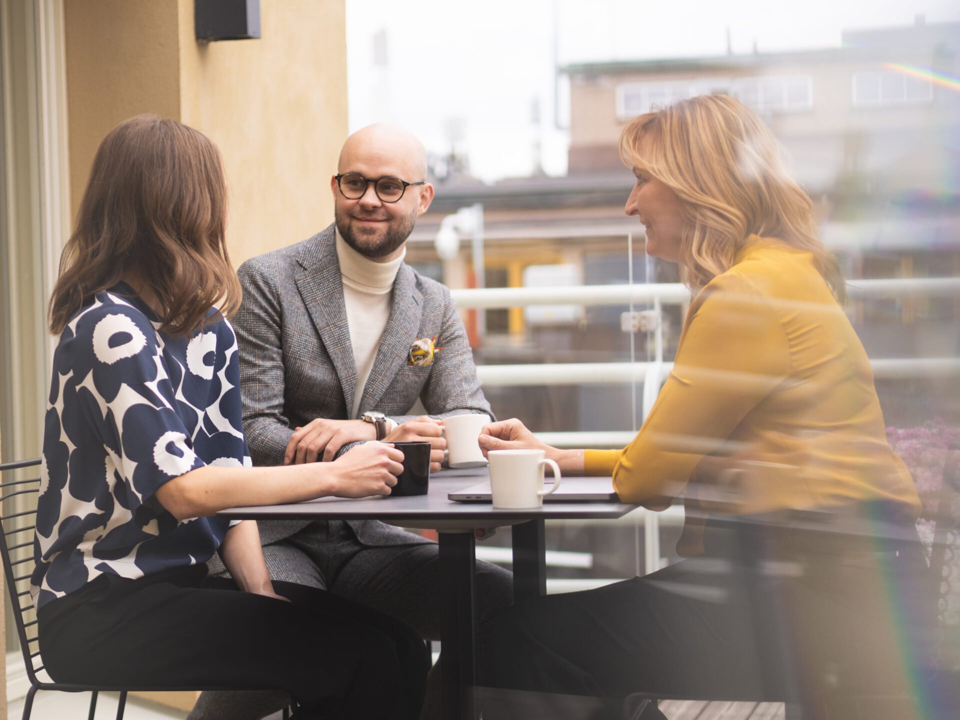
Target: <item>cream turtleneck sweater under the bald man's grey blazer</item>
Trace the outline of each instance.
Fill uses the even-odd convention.
[[[374,262],[348,246],[347,241],[340,235],[340,230],[337,230],[337,257],[340,260],[340,276],[344,283],[344,305],[347,308],[353,362],[357,369],[357,385],[353,393],[350,418],[359,417],[360,400],[376,359],[383,329],[390,317],[396,273],[406,253],[404,248],[396,260]],[[396,423],[388,420],[388,430],[394,426]]]

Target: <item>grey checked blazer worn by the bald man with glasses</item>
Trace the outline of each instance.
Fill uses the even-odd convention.
[[[243,304],[233,319],[240,352],[243,424],[254,465],[283,463],[293,428],[315,418],[348,420],[357,371],[334,226],[296,245],[245,262],[237,275]],[[418,338],[437,336],[444,348],[432,365],[407,365]],[[435,418],[487,413],[467,332],[450,291],[406,263],[394,281],[393,305],[360,402],[404,422],[417,399]],[[345,450],[348,448],[345,448]],[[260,523],[264,544],[304,522]],[[396,544],[378,522],[350,522],[364,544]],[[411,536],[412,537],[412,536]]]

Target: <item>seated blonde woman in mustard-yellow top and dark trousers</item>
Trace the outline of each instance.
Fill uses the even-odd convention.
[[[627,214],[693,292],[674,368],[622,450],[551,447],[519,420],[492,423],[480,444],[538,447],[564,472],[612,475],[623,500],[653,510],[685,495],[681,544],[697,557],[505,612],[482,644],[484,683],[535,705],[605,698],[613,717],[637,691],[782,700],[791,683],[816,693],[838,670],[902,686],[903,667],[921,660],[910,631],[922,618],[888,589],[922,582],[919,500],[886,443],[810,200],[771,132],[724,95],[636,117],[620,153],[636,176]],[[795,511],[839,532],[805,532]],[[734,517],[740,530],[728,532]],[[744,549],[782,573],[753,573]]]

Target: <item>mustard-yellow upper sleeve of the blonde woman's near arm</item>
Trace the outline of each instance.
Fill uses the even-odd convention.
[[[622,500],[661,506],[683,492],[704,456],[787,377],[789,344],[774,301],[736,270],[696,297],[674,368],[612,468]],[[590,453],[585,464],[611,459]]]

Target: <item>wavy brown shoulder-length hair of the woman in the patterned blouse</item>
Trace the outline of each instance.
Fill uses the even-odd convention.
[[[241,291],[226,221],[223,162],[204,133],[156,115],[120,123],[93,158],[60,255],[50,331],[59,335],[94,294],[128,274],[154,291],[164,332],[187,336],[232,315]],[[207,318],[212,306],[218,312]]]

